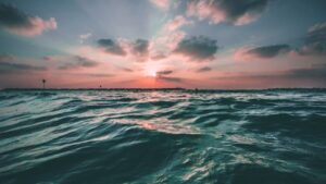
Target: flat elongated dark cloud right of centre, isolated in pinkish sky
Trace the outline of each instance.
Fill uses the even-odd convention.
[[[283,53],[287,53],[291,50],[288,45],[274,45],[274,46],[265,46],[258,47],[251,50],[248,50],[246,54],[251,54],[259,58],[274,58]]]

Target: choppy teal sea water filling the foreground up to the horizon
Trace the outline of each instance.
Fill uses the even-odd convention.
[[[326,183],[326,90],[0,91],[0,183]]]

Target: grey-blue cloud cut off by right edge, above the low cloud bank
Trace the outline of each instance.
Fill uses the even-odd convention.
[[[326,54],[326,22],[312,26],[304,37],[304,45],[297,49],[300,56]]]

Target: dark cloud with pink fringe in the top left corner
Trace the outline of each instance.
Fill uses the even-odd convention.
[[[13,5],[0,3],[0,28],[12,34],[36,36],[57,27],[54,17],[45,21],[38,16],[29,16]]]

